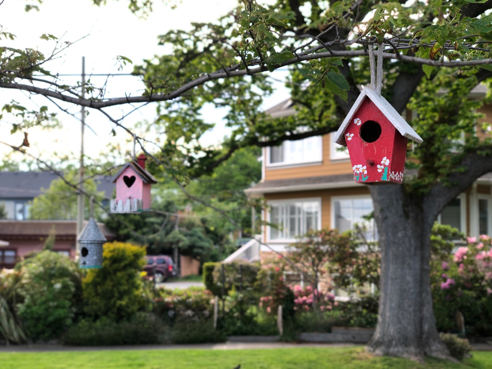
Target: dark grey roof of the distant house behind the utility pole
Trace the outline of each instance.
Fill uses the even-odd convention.
[[[59,176],[53,171],[12,171],[0,172],[0,199],[32,199],[50,187]],[[105,198],[113,196],[115,185],[112,176],[95,178],[97,191],[104,192]]]

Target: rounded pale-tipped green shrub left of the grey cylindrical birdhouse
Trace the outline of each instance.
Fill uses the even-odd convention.
[[[66,256],[49,250],[21,263],[24,273],[19,304],[28,336],[34,340],[59,337],[72,324],[80,274]]]

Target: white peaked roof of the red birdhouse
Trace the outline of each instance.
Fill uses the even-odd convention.
[[[347,116],[343,120],[340,128],[338,128],[337,134],[335,134],[334,141],[340,145],[347,146],[345,142],[345,130],[347,126],[350,124],[352,119],[354,118],[357,110],[361,106],[362,102],[366,98],[366,96],[377,106],[379,110],[388,118],[388,120],[395,126],[398,132],[404,137],[407,137],[417,143],[422,143],[423,139],[413,130],[412,127],[403,119],[403,117],[395,110],[395,108],[382,96],[378,96],[374,91],[372,91],[368,87],[364,87],[361,94],[354,102],[354,105],[348,112]]]

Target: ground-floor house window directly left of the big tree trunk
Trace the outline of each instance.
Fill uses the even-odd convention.
[[[364,217],[372,213],[372,199],[370,197],[335,198],[332,205],[332,227],[339,232],[353,230],[355,225],[366,227],[366,239],[376,240],[377,230],[374,219]]]

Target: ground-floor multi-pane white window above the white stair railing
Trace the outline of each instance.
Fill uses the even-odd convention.
[[[294,240],[308,230],[321,228],[321,200],[271,202],[269,227],[271,240]]]

